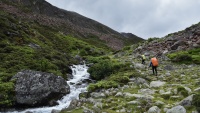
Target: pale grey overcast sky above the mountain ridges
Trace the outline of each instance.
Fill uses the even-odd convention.
[[[46,0],[118,32],[164,37],[200,22],[200,0]]]

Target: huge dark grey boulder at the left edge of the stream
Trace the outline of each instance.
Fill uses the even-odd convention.
[[[40,71],[18,72],[16,79],[16,104],[23,106],[53,106],[57,100],[70,93],[70,87],[60,76]]]

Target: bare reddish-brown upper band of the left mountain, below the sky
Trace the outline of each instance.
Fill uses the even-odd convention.
[[[9,13],[55,27],[65,34],[79,37],[89,43],[91,40],[95,43],[102,42],[102,44],[118,50],[126,42],[134,40],[126,39],[103,24],[75,12],[54,7],[44,0],[11,0],[10,2],[3,0],[3,2],[12,5],[7,6],[1,3],[1,8]]]

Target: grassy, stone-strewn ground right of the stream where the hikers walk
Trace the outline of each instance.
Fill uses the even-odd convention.
[[[98,81],[88,86],[88,94],[81,94],[79,100],[61,113],[200,111],[200,65],[193,60],[193,55],[199,56],[199,48],[181,52],[187,53],[191,60],[178,57],[180,52],[168,55],[178,61],[159,57],[158,76],[153,75],[149,67],[151,56],[146,56],[146,63],[142,65],[140,56],[132,51],[132,47],[126,47],[118,53],[93,60],[95,64],[89,72]]]

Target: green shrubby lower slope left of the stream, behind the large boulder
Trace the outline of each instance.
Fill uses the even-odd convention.
[[[98,56],[100,48],[56,29],[33,21],[21,20],[0,11],[0,107],[12,105],[12,76],[24,69],[51,72],[66,78],[69,66],[77,63],[74,56]]]

